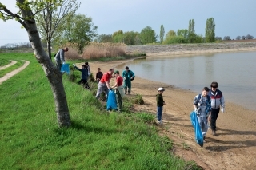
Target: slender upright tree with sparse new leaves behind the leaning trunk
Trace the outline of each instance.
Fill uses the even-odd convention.
[[[66,23],[69,23],[68,18],[78,10],[80,3],[76,0],[37,0],[34,3],[35,5],[31,7],[36,14],[34,18],[38,32],[42,39],[46,39],[48,56],[51,58],[52,40],[58,41],[66,28]],[[45,8],[38,10],[38,6],[45,6]]]

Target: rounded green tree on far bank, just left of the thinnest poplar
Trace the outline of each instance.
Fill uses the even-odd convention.
[[[142,44],[153,43],[157,41],[157,35],[150,26],[146,26],[140,33]]]

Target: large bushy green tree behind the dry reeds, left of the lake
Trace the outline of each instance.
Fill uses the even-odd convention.
[[[64,39],[76,45],[79,52],[82,53],[83,48],[97,36],[97,26],[94,26],[92,18],[86,17],[84,14],[75,14],[70,21],[72,22],[66,23]]]

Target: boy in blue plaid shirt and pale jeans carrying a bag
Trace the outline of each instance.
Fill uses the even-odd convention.
[[[194,97],[194,112],[197,113],[198,123],[201,127],[203,140],[206,142],[206,132],[208,131],[208,116],[211,112],[211,101],[207,95],[209,88],[204,87],[202,93]]]

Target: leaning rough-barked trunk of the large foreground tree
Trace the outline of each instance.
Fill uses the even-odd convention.
[[[17,2],[23,4],[24,0],[17,0]],[[30,16],[33,16],[31,10],[21,9],[21,11],[23,18],[30,18]],[[25,27],[32,48],[34,49],[34,54],[38,62],[42,65],[42,69],[50,82],[50,87],[54,95],[58,125],[60,127],[70,127],[70,112],[66,101],[66,93],[62,83],[62,73],[54,66],[53,62],[50,60],[50,57],[48,57],[44,51],[34,18],[19,22],[21,22],[22,26]]]

